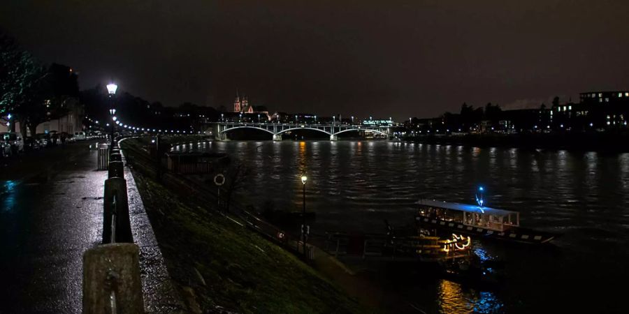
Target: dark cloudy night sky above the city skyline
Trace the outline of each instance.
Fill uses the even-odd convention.
[[[432,117],[629,89],[629,1],[7,1],[43,61],[150,101]]]

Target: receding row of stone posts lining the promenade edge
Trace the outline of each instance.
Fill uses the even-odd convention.
[[[104,146],[104,147],[103,147]],[[102,244],[83,254],[83,313],[144,313],[140,249],[133,244],[122,154],[99,146],[99,170],[108,170]]]

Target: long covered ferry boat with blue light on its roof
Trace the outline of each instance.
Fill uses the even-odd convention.
[[[520,214],[517,211],[485,207],[481,196],[477,195],[477,205],[419,200],[419,211],[415,216],[418,227],[440,230],[452,234],[477,235],[477,239],[500,239],[528,244],[544,244],[559,236],[520,227]]]

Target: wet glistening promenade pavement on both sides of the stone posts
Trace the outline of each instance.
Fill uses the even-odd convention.
[[[101,241],[107,179],[89,144],[0,160],[0,313],[80,313],[82,254]],[[178,306],[164,260],[128,170],[125,177],[145,304],[170,312]]]

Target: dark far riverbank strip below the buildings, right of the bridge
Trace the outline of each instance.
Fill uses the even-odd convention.
[[[570,151],[629,152],[628,133],[529,133],[421,135],[405,140],[425,144],[521,149],[565,149]]]

